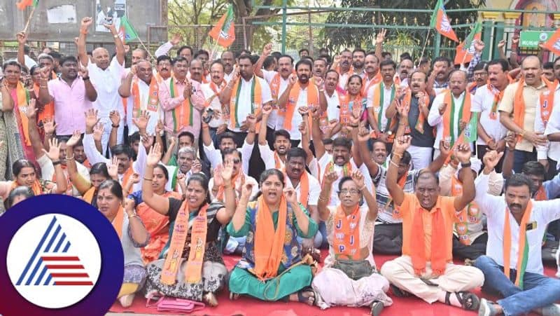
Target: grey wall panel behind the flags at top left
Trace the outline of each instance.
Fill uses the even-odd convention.
[[[83,17],[90,16],[95,21],[96,1],[103,8],[113,7],[115,2],[125,2],[127,18],[142,41],[146,41],[148,25],[163,24],[160,2],[167,0],[40,0],[27,31],[29,41],[73,42],[74,37],[78,36],[80,20]],[[0,41],[14,40],[15,34],[25,27],[31,8],[19,11],[15,7],[15,2],[16,0],[0,0]],[[49,17],[48,11],[53,13],[53,9],[56,11],[60,8],[69,8],[70,10],[66,12],[75,12],[76,20],[73,20],[72,14],[70,14],[66,15],[67,18],[64,22],[52,22],[53,14]],[[165,14],[167,15],[167,13]],[[163,33],[152,34],[151,41],[167,41],[167,33]],[[110,33],[96,32],[92,26],[87,36],[87,42],[112,43],[113,38]]]

